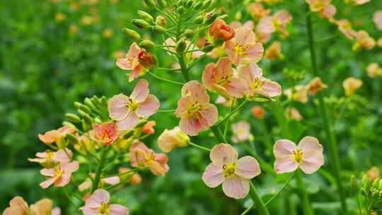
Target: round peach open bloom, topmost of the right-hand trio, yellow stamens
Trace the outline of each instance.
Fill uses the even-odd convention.
[[[256,42],[255,33],[249,28],[238,28],[232,40],[225,42],[225,49],[233,64],[257,63],[262,58],[264,47]]]

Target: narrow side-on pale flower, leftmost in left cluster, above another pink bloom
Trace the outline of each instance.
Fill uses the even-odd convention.
[[[70,149],[59,149],[59,151],[50,151],[47,150],[45,152],[37,152],[37,158],[28,158],[30,162],[40,163],[42,166],[47,168],[52,168],[57,163],[66,163],[69,162],[73,153]]]

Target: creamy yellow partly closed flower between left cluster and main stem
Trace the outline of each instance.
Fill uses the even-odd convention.
[[[185,147],[190,142],[190,137],[180,130],[179,127],[173,129],[165,129],[158,137],[159,149],[168,153],[175,147]]]

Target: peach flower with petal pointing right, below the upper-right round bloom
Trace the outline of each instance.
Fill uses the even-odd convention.
[[[249,96],[260,94],[272,98],[281,95],[279,83],[265,79],[262,76],[262,70],[257,64],[239,66],[238,76],[247,82],[245,93]]]

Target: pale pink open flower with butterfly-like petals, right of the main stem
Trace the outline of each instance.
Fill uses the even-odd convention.
[[[323,146],[312,136],[305,136],[298,146],[288,139],[280,139],[274,144],[273,153],[277,174],[294,172],[297,168],[312,174],[324,164]]]

